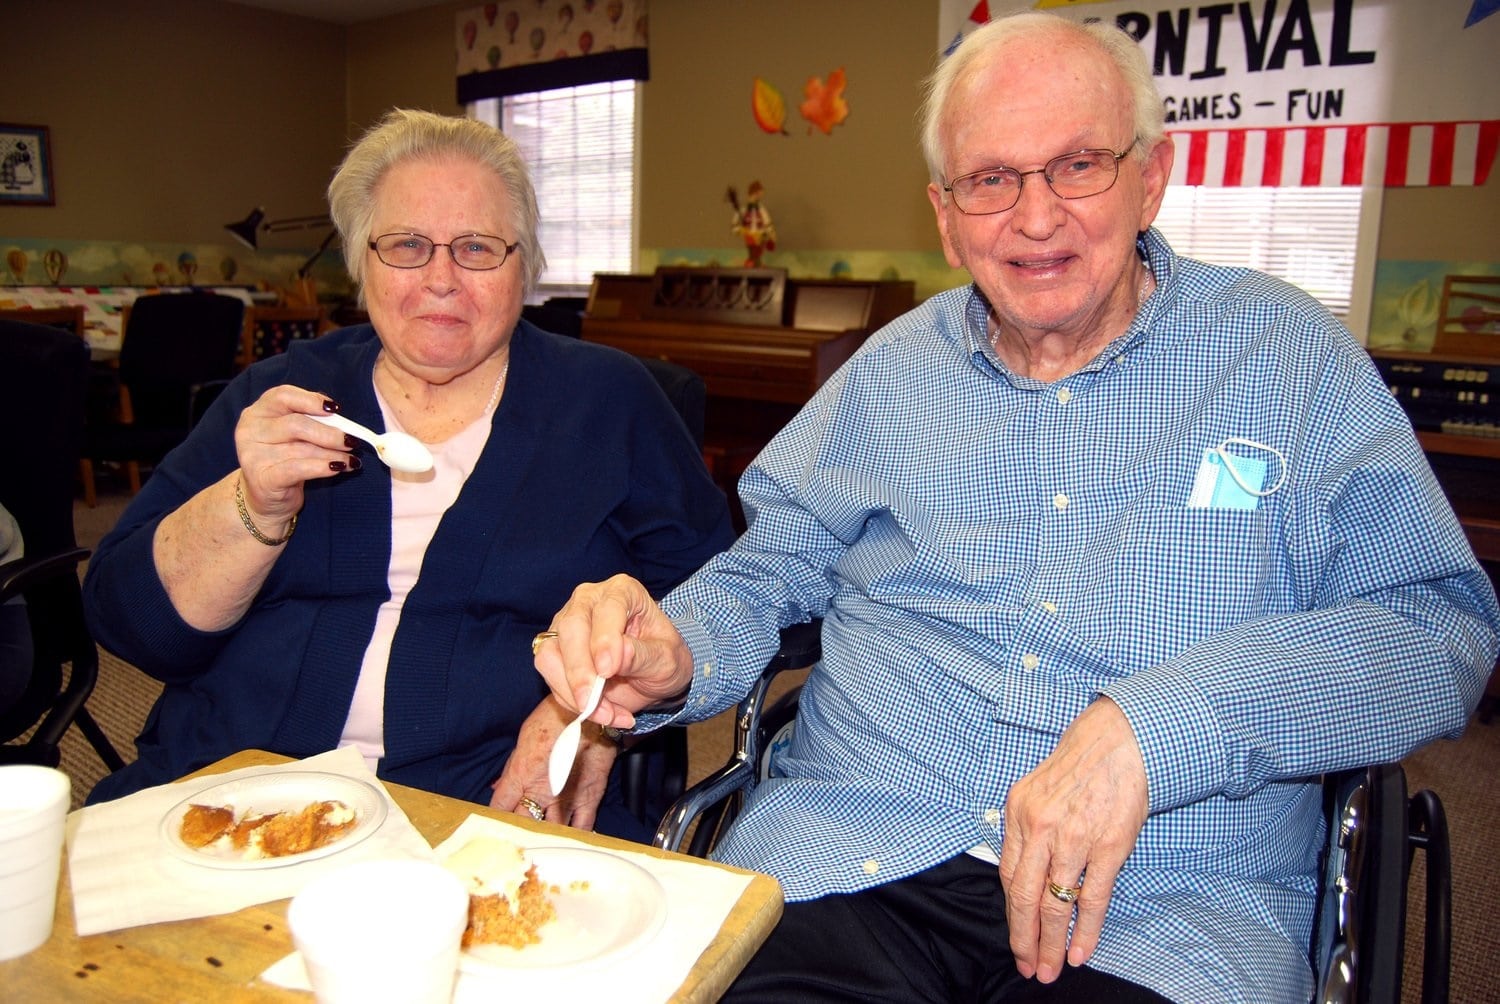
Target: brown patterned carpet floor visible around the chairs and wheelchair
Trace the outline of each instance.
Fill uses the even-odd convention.
[[[78,504],[78,543],[93,548],[114,525],[128,500],[102,494],[99,504]],[[126,761],[135,758],[135,737],[160,693],[160,684],[112,654],[99,653],[99,684],[88,708]],[[696,782],[728,761],[734,744],[734,716],[724,713],[688,728],[688,782]],[[1500,857],[1500,719],[1474,720],[1456,741],[1438,741],[1404,761],[1410,791],[1431,789],[1448,813],[1454,858],[1452,993],[1455,1004],[1500,1002],[1500,980],[1494,975],[1500,957],[1500,875],[1492,867]],[[82,803],[105,768],[93,747],[69,729],[63,740],[63,770],[74,779],[74,804]],[[1408,899],[1407,950],[1402,999],[1420,999],[1420,945],[1425,887],[1424,855],[1416,855]],[[3,993],[0,993],[3,996]]]

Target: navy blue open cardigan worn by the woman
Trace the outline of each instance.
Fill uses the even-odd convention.
[[[84,581],[88,624],[166,687],[136,740],[138,759],[99,782],[92,801],[240,749],[300,758],[338,744],[388,596],[386,467],[360,447],[360,471],[308,483],[297,533],[226,630],[183,623],[156,575],[152,537],[162,516],[237,467],[234,425],[268,387],[322,392],[381,429],[370,383],[378,351],[374,329],[358,326],[294,342],[240,374],[100,542]],[[627,572],[660,596],[730,536],[723,492],[645,368],[522,321],[489,441],[402,611],[380,776],[488,803],[522,720],[546,693],[531,636],[573,587]],[[606,809],[600,825],[610,828]]]

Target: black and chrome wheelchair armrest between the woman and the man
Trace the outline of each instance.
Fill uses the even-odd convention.
[[[736,812],[735,801],[750,791],[758,780],[760,762],[760,713],[765,711],[771,683],[784,671],[802,669],[822,657],[822,620],[790,624],[782,629],[782,644],[766,662],[760,678],[754,681],[735,711],[735,749],[729,762],[682,792],[672,803],[652,843],[668,851],[680,851],[693,822],[708,825],[708,813],[717,812],[714,828],[729,824]],[[693,852],[706,852],[708,842],[693,840]]]

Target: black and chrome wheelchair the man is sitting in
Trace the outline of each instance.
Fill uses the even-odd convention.
[[[736,708],[729,762],[672,804],[657,827],[657,846],[706,857],[740,813],[746,794],[770,776],[776,753],[790,741],[798,699],[792,689],[768,707],[771,686],[782,672],[820,659],[820,621],[810,621],[782,632],[782,647]],[[1328,834],[1308,945],[1317,975],[1314,1004],[1400,1004],[1407,885],[1416,851],[1426,855],[1420,1001],[1444,1004],[1452,864],[1442,800],[1432,791],[1408,797],[1400,764],[1326,774],[1323,797]]]

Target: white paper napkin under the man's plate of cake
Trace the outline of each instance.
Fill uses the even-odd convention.
[[[478,836],[492,836],[518,846],[582,846],[598,849],[582,840],[548,833],[534,833],[488,816],[471,815],[436,848],[436,860],[444,860]],[[672,996],[687,978],[698,956],[718,933],[724,917],[734,909],[748,875],[711,867],[694,861],[663,860],[632,851],[610,851],[651,872],[666,891],[666,921],[654,938],[639,950],[597,966],[558,966],[538,969],[502,969],[459,974],[454,1004],[489,1004],[513,999],[556,999],[592,993],[612,1004],[660,1004]],[[296,951],[261,974],[261,978],[296,990],[308,990],[308,971]],[[586,998],[585,998],[586,999]]]

